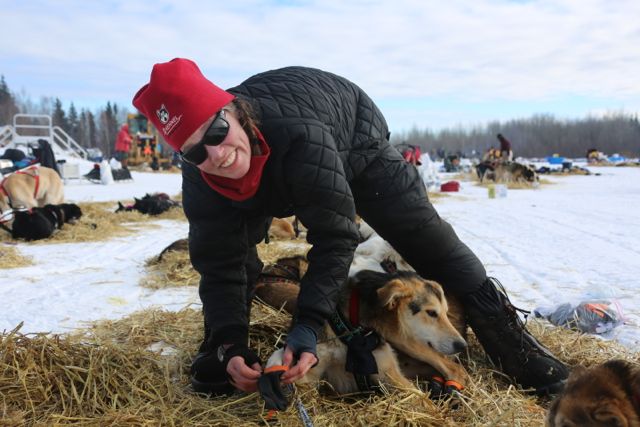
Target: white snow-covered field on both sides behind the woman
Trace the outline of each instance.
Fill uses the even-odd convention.
[[[495,199],[487,197],[486,188],[462,182],[460,192],[434,201],[516,305],[532,310],[602,298],[617,302],[625,325],[606,338],[637,350],[640,168],[590,170],[590,176],[543,176],[550,184],[509,190]],[[118,200],[147,192],[180,192],[179,174],[133,173],[133,178],[111,185],[71,181],[66,199],[113,201],[115,209]],[[186,222],[156,223],[157,228],[106,242],[18,243],[34,265],[0,269],[0,330],[24,322],[23,333],[60,333],[152,306],[178,310],[199,305],[195,287],[139,286],[145,260],[187,235]]]

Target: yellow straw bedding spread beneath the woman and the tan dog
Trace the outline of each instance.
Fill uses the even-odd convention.
[[[300,242],[260,245],[266,263],[305,253]],[[188,255],[163,257],[161,274],[182,263],[174,283],[197,278],[188,272]],[[150,261],[151,262],[151,261]],[[186,264],[185,264],[186,263]],[[188,277],[187,277],[188,276]],[[263,360],[281,345],[290,317],[254,302],[251,345]],[[611,342],[530,321],[529,330],[571,366],[590,366],[610,358],[637,360]],[[179,312],[147,310],[117,321],[102,321],[76,333],[0,334],[0,426],[2,425],[265,425],[257,394],[206,398],[189,385],[190,360],[202,339],[198,308]],[[541,426],[549,401],[519,391],[492,369],[470,334],[462,363],[471,375],[459,399],[434,402],[426,394],[390,391],[343,396],[298,387],[297,396],[316,426]],[[278,414],[284,426],[300,425],[294,406]]]

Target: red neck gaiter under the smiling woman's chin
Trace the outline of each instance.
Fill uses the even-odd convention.
[[[271,149],[264,140],[264,137],[259,130],[256,129],[258,135],[258,142],[260,143],[260,152],[262,154],[257,156],[251,156],[251,163],[249,165],[249,171],[245,176],[240,179],[224,178],[217,175],[210,175],[206,172],[200,171],[200,175],[209,187],[216,190],[223,196],[235,200],[236,202],[242,202],[250,197],[253,197],[258,191],[260,186],[260,178],[262,178],[262,170],[265,163],[271,154]]]

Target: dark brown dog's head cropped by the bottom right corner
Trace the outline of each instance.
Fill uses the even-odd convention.
[[[640,365],[611,360],[577,367],[552,403],[549,427],[640,427]]]

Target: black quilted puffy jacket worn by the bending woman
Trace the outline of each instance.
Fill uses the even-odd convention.
[[[248,251],[264,238],[269,217],[295,214],[313,246],[296,318],[318,331],[358,243],[349,182],[388,139],[387,124],[358,86],[317,69],[267,71],[229,92],[254,105],[271,155],[257,194],[244,202],[216,193],[198,169],[184,165],[189,249],[205,318],[213,335],[246,343],[248,319],[238,307],[246,304]]]

